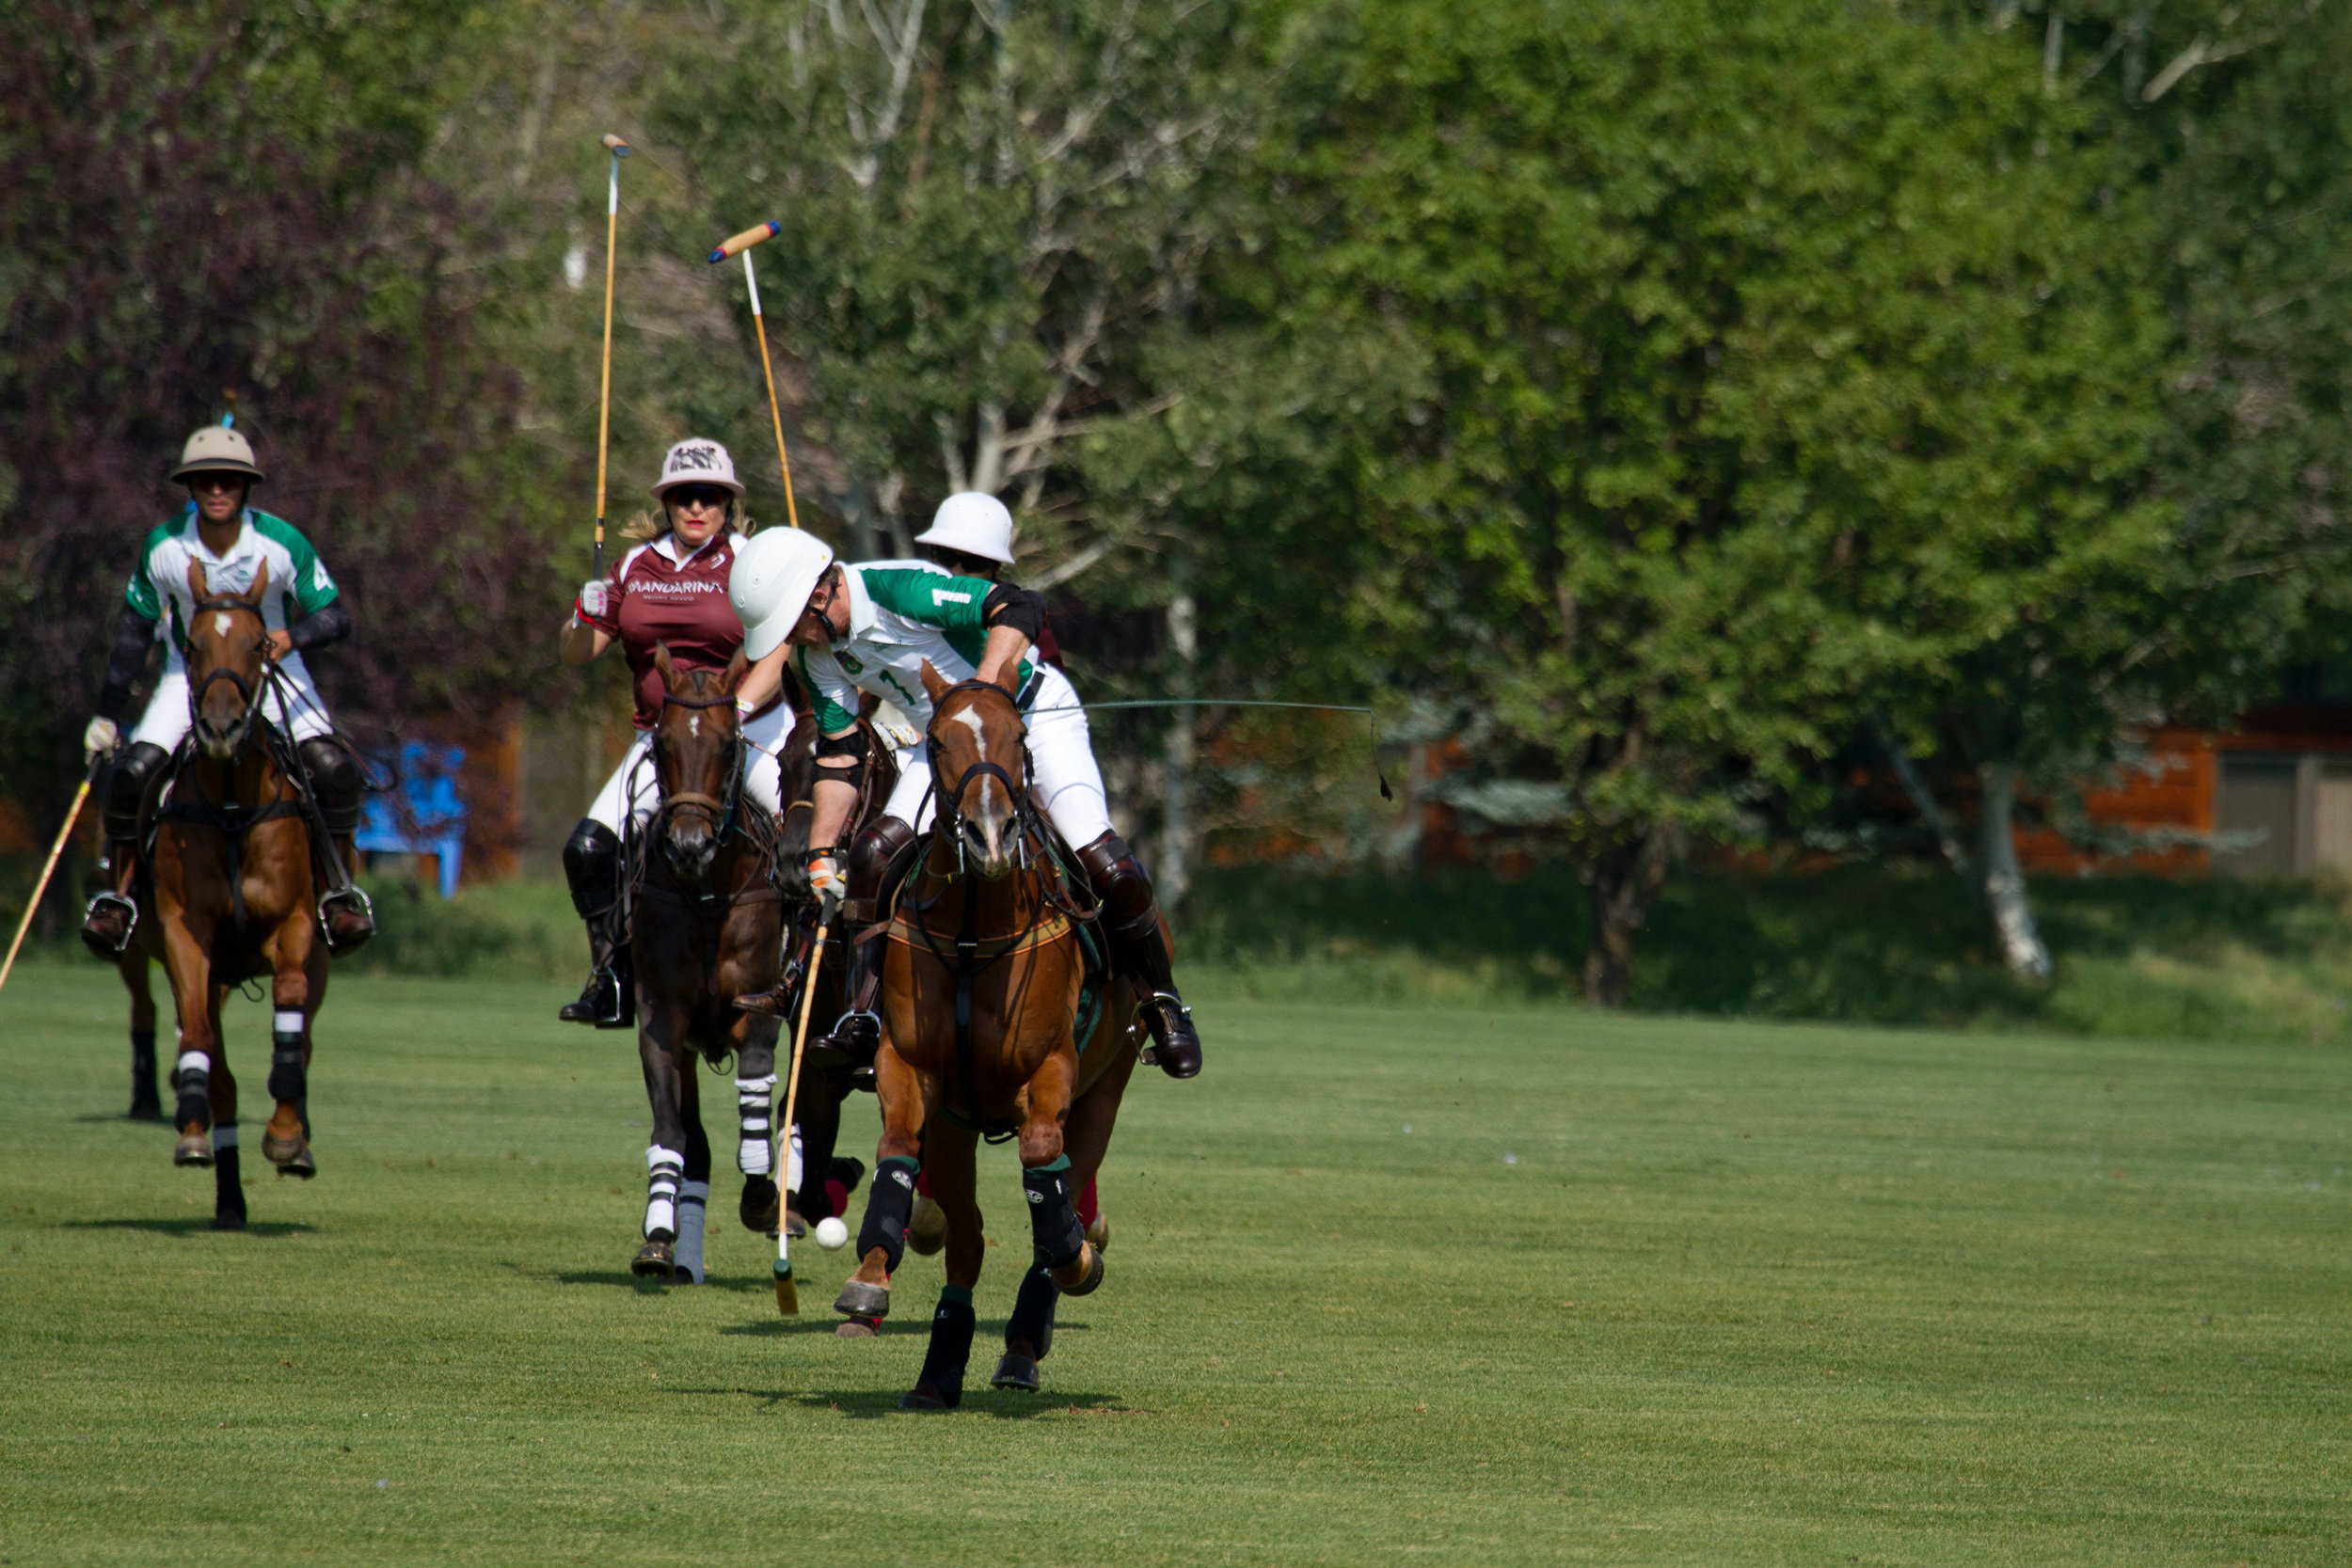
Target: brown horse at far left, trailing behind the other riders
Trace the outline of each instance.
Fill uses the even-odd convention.
[[[313,825],[292,741],[261,722],[270,682],[261,599],[268,567],[235,597],[212,597],[188,564],[195,616],[181,651],[193,726],[155,809],[151,875],[162,961],[179,1011],[179,1145],[172,1164],[214,1166],[214,1229],[245,1227],[238,1182],[238,1079],[221,1044],[221,1001],[240,980],[270,976],[275,1100],[263,1157],[285,1175],[318,1175],[310,1157],[310,1023],[327,999],[327,940],[318,926]],[[334,853],[332,849],[327,853]]]

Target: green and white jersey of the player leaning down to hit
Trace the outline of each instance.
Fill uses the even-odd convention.
[[[858,722],[858,693],[891,703],[915,729],[931,726],[931,698],[922,689],[922,665],[950,682],[971,679],[988,646],[988,578],[948,576],[927,562],[866,562],[842,567],[849,588],[849,635],[826,649],[795,649],[816,726],[837,736]],[[1018,686],[1028,686],[1035,661],[1021,661]]]

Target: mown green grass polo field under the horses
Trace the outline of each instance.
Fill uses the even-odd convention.
[[[9,983],[0,1559],[2352,1561],[2338,1046],[1209,1004],[1047,1392],[901,1415],[936,1260],[779,1321],[724,1173],[715,1284],[635,1284],[635,1056],[557,999],[339,980],[322,1175],[216,1237],[113,978]]]

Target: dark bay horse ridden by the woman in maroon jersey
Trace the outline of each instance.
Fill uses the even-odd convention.
[[[701,1269],[701,1218],[710,1199],[696,1058],[734,1056],[743,1168],[739,1218],[774,1232],[771,1093],[776,1020],[739,1013],[734,997],[776,980],[783,940],[776,818],[743,790],[750,743],[734,693],[748,670],[680,670],[654,646],[663,705],[654,724],[661,804],[630,832],[630,947],[637,969],[637,1058],[654,1107],[644,1152],[642,1279],[689,1284]],[[680,1255],[684,1241],[684,1255]]]

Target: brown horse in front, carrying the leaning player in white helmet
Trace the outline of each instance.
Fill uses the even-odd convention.
[[[948,1286],[908,1410],[962,1401],[971,1359],[971,1286],[985,1239],[976,1199],[978,1140],[1018,1138],[1035,1267],[1023,1276],[995,1387],[1035,1389],[1054,1340],[1054,1302],[1103,1281],[1070,1194],[1103,1164],[1120,1095],[1136,1067],[1141,997],[1124,978],[1080,1037],[1094,919],[1082,877],[1061,870],[1051,827],[1028,795],[1021,712],[1004,686],[950,686],[924,665],[934,820],[898,893],[882,959],[882,1051],[875,1086],[882,1143],[858,1234],[858,1269],[835,1309],[844,1335],[889,1312],[915,1173],[948,1220]]]

